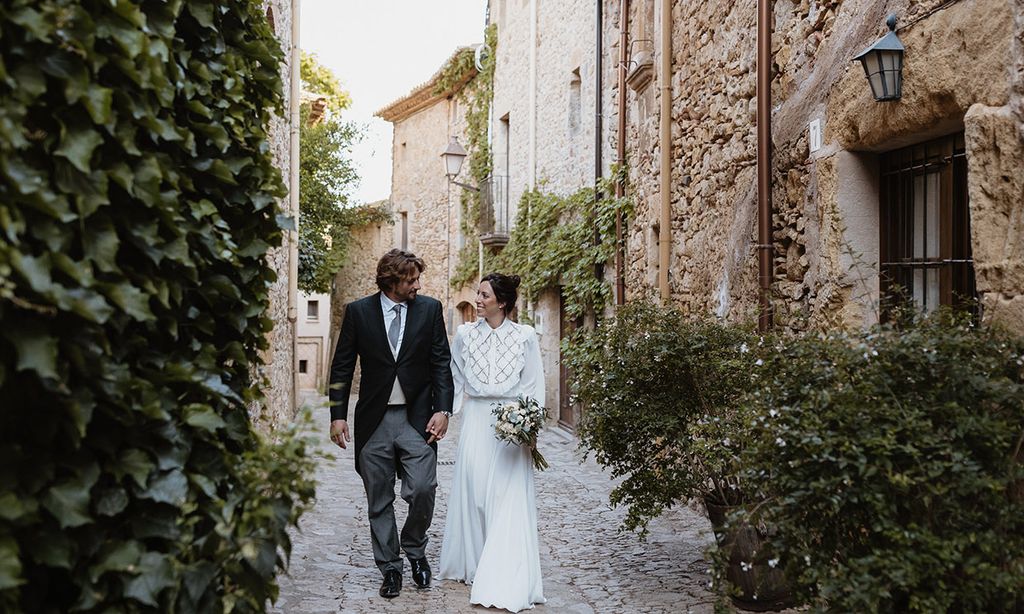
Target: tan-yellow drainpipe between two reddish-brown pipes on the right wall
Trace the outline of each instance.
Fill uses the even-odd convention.
[[[763,0],[762,0],[763,1]],[[662,149],[662,219],[657,236],[657,286],[668,305],[669,260],[672,254],[672,0],[662,0],[662,113],[658,146]]]

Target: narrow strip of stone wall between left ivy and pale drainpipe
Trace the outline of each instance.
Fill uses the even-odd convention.
[[[284,109],[289,108],[291,95],[291,47],[292,47],[292,4],[290,0],[266,0],[267,17],[272,17],[272,27],[281,48],[285,51],[282,63],[282,81],[285,91]],[[288,117],[274,117],[270,122],[269,140],[274,163],[281,169],[286,186],[291,168],[290,123]],[[288,196],[279,202],[281,211],[288,211]],[[292,274],[288,260],[287,234],[280,248],[270,250],[267,262],[278,272],[278,280],[270,287],[270,305],[267,317],[273,320],[273,330],[267,335],[268,347],[261,352],[264,364],[258,377],[265,379],[263,392],[266,395],[264,407],[254,409],[253,418],[262,428],[273,429],[290,422],[295,412],[295,321],[289,319],[288,297],[289,278]]]

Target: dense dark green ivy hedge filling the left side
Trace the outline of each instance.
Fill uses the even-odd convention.
[[[0,610],[274,596],[312,496],[248,414],[281,57],[255,2],[0,8]]]

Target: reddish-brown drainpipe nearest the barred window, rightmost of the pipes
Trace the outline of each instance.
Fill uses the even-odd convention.
[[[758,0],[758,278],[760,313],[758,330],[773,323],[771,306],[772,259],[775,249],[771,232],[771,0]]]

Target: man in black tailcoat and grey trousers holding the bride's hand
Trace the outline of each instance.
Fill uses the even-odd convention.
[[[441,304],[417,297],[423,260],[391,250],[377,264],[380,292],[345,308],[331,364],[331,440],[350,441],[348,397],[355,359],[362,368],[355,403],[355,471],[367,489],[381,597],[401,591],[401,553],[394,520],[394,481],[409,517],[401,529],[416,585],[430,585],[427,529],[437,489],[437,444],[447,432],[455,386]]]

